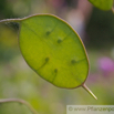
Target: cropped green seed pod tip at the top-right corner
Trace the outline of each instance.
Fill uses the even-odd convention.
[[[113,0],[89,0],[89,1],[101,10],[111,10],[113,7]]]

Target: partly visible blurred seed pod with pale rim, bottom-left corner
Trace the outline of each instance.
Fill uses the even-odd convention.
[[[0,100],[0,114],[38,114],[25,101],[18,99]]]

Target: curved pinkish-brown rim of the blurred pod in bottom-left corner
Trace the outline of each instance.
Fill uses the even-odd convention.
[[[32,114],[38,114],[37,111],[28,102],[25,102],[23,100],[19,100],[19,99],[4,99],[4,100],[0,100],[0,104],[1,103],[11,103],[11,102],[18,102],[18,103],[24,104],[32,112]]]

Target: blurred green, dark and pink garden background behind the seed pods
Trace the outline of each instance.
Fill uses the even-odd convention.
[[[18,45],[18,23],[0,24],[0,99],[22,99],[39,114],[65,114],[66,105],[114,105],[114,14],[87,0],[0,0],[0,20],[52,13],[69,22],[83,40],[90,74],[82,87],[59,89],[37,75]],[[18,103],[0,104],[0,114],[32,114]]]

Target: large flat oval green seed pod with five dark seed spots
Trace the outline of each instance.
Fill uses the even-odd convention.
[[[27,63],[60,87],[83,84],[89,61],[81,39],[63,20],[40,14],[21,21],[20,49]]]

